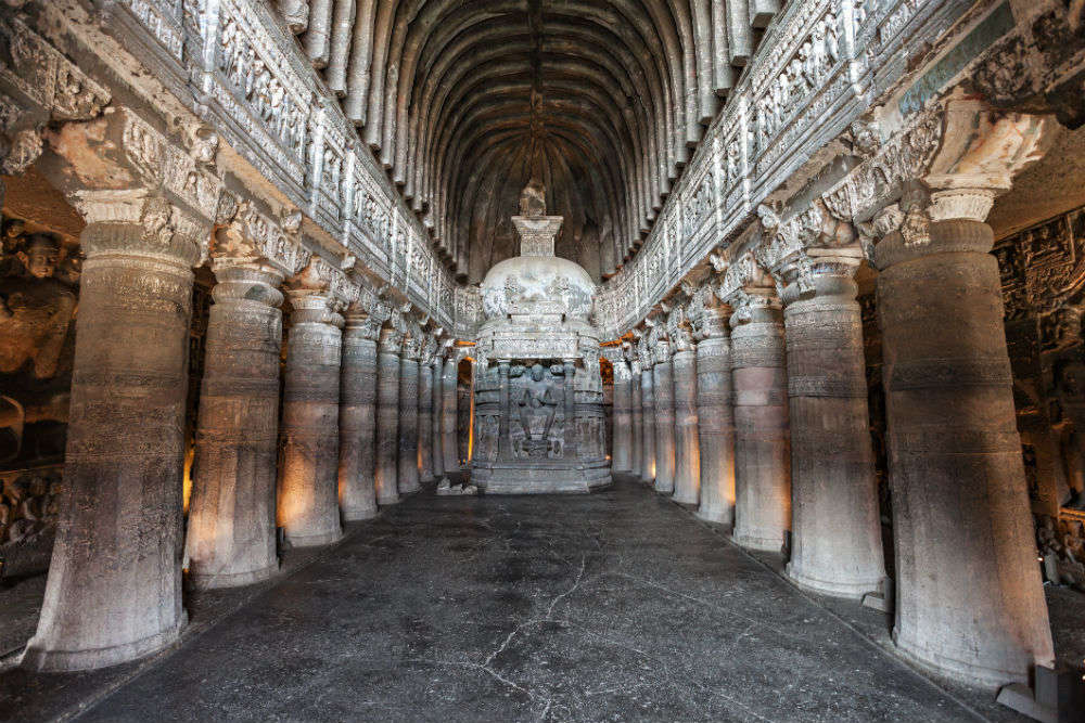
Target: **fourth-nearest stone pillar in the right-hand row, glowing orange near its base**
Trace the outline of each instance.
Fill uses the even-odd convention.
[[[728,313],[709,306],[698,321],[697,409],[701,441],[701,504],[697,516],[735,524],[735,412]]]

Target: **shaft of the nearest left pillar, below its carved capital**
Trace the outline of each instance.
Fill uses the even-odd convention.
[[[111,205],[112,204],[103,204]],[[146,249],[139,215],[81,233],[64,493],[23,664],[82,670],[168,645],[181,608],[181,472],[194,237]],[[183,248],[182,248],[183,246]]]

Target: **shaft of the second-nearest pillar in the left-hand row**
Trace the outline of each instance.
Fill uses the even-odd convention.
[[[275,574],[282,274],[220,266],[207,321],[186,557],[197,588]]]

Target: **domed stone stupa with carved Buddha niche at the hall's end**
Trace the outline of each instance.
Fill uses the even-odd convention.
[[[553,255],[561,216],[531,181],[512,223],[520,256],[482,282],[471,479],[487,494],[590,492],[611,483],[590,322],[596,284]]]

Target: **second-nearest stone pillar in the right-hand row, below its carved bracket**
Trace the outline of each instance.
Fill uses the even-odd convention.
[[[807,250],[814,271],[783,289],[791,424],[791,561],[801,588],[863,597],[885,579],[858,247]]]

